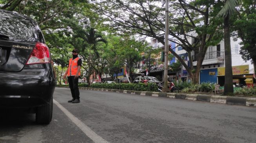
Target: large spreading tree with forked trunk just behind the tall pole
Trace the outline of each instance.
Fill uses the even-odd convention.
[[[189,61],[192,65],[191,52],[197,56],[195,67],[188,65],[171,48],[169,51],[187,69],[193,83],[199,83],[200,68],[203,63],[208,46],[220,42],[222,36],[218,29],[218,21],[209,21],[214,0],[204,1],[171,1],[170,29],[172,38],[169,41],[182,46],[188,52]],[[104,5],[104,6],[103,6]],[[163,3],[157,0],[102,0],[95,7],[94,11],[104,15],[106,25],[118,29],[121,33],[128,35],[142,35],[156,38],[164,45],[164,7]],[[217,30],[216,30],[217,29]],[[191,39],[193,39],[191,42]]]

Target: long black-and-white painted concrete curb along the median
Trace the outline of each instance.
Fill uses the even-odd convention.
[[[69,88],[60,86],[57,88]],[[243,106],[253,106],[256,107],[256,98],[249,97],[227,97],[227,96],[218,96],[218,95],[200,95],[200,94],[183,94],[183,93],[162,93],[162,92],[151,92],[151,91],[131,91],[131,90],[119,90],[119,89],[104,89],[104,88],[84,88],[80,87],[79,89],[85,90],[96,90],[96,91],[112,91],[116,93],[127,93],[143,96],[152,96],[152,97],[166,97],[166,98],[175,98],[175,99],[186,99],[202,102],[211,102],[218,104],[230,104],[230,105],[243,105]]]

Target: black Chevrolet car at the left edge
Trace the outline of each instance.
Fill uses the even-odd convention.
[[[37,123],[50,123],[55,79],[37,23],[0,10],[0,108],[22,108],[36,113]]]

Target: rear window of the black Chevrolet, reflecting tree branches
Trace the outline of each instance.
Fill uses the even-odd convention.
[[[40,32],[40,34],[38,34]],[[38,41],[43,39],[38,25],[31,18],[7,11],[0,11],[0,34],[11,41]]]

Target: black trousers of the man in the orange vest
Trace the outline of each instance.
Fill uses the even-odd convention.
[[[71,94],[73,99],[80,99],[79,95],[79,88],[78,88],[78,78],[74,79],[74,76],[67,77],[69,82],[69,88],[71,90]]]

